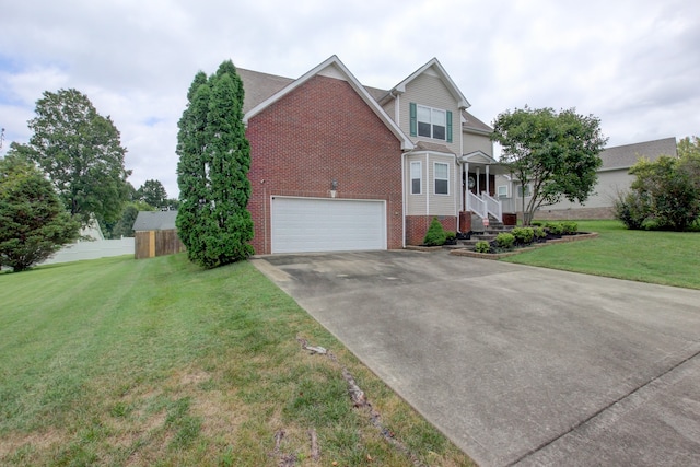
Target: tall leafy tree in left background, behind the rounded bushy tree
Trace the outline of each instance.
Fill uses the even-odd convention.
[[[83,225],[95,215],[114,222],[128,198],[124,167],[126,149],[109,117],[103,117],[86,95],[74,89],[44,92],[36,103],[28,144],[10,150],[35,162],[50,178],[60,199]]]

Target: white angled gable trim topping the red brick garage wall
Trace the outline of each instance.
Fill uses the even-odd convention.
[[[380,117],[380,119],[386,125],[386,127],[396,136],[396,138],[401,142],[401,149],[410,150],[413,148],[413,143],[411,140],[401,131],[401,129],[396,125],[394,120],[384,112],[384,109],[378,105],[378,103],[372,97],[372,95],[368,92],[368,90],[360,84],[360,82],[354,78],[354,75],[348,70],[348,68],[340,61],[337,56],[331,56],[324,62],[319,63],[312,70],[307,71],[298,80],[292,80],[285,86],[275,92],[267,98],[262,100],[248,112],[245,113],[243,117],[243,121],[247,125],[250,118],[255,117],[262,110],[265,110],[270,105],[275,104],[282,97],[287,96],[299,86],[307,82],[312,77],[315,75],[324,75],[329,78],[335,78],[339,80],[347,81],[350,86],[358,93],[358,95],[364,101],[364,103],[374,112],[374,114]],[[280,82],[281,83],[281,82]],[[245,89],[245,83],[244,83]],[[246,90],[247,93],[247,90]],[[331,105],[331,103],[328,103]]]

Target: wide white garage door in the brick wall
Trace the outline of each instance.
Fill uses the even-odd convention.
[[[386,249],[384,201],[272,198],[272,253]]]

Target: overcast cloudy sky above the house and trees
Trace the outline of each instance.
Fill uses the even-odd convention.
[[[74,87],[120,130],[131,184],[174,197],[197,71],[299,78],[331,55],[383,89],[438,57],[488,124],[527,104],[599,117],[608,145],[700,135],[697,0],[23,0],[0,7],[0,154],[44,91]]]

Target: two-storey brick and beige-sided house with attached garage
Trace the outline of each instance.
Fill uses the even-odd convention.
[[[256,254],[395,249],[433,217],[500,218],[490,127],[432,59],[390,90],[332,56],[296,80],[240,69]],[[462,223],[459,222],[462,219]]]

